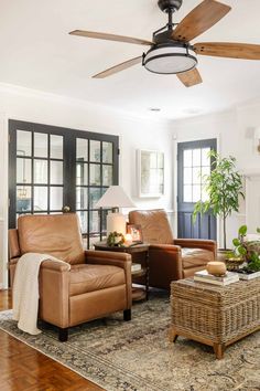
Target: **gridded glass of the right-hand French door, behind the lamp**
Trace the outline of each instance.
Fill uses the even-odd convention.
[[[117,177],[115,144],[91,138],[76,139],[76,211],[88,246],[106,234],[108,210],[96,208],[97,201]]]

